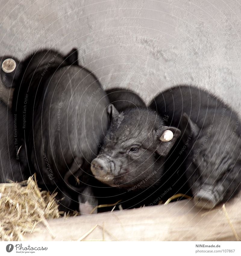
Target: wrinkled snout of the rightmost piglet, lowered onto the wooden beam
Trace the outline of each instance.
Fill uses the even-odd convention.
[[[195,194],[194,202],[196,207],[210,210],[218,204],[218,198],[213,186],[203,185]]]

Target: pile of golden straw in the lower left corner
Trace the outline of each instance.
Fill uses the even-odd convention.
[[[49,229],[46,219],[60,217],[55,195],[40,191],[33,176],[25,182],[0,184],[0,241],[22,241],[40,222]]]

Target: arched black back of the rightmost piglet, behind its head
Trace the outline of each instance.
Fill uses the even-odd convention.
[[[150,107],[157,110],[160,115],[168,115],[168,124],[176,127],[179,127],[184,113],[200,128],[218,122],[221,116],[236,116],[235,112],[210,92],[186,85],[158,94]]]

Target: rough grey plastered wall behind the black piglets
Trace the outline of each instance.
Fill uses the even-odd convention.
[[[161,90],[190,83],[240,109],[239,1],[0,2],[0,55],[75,46],[80,64],[107,88],[131,88],[148,103]]]

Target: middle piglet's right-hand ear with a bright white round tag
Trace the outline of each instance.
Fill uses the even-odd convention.
[[[158,144],[156,153],[160,156],[167,156],[171,148],[181,135],[181,131],[175,127],[164,126],[153,131],[154,140]]]

